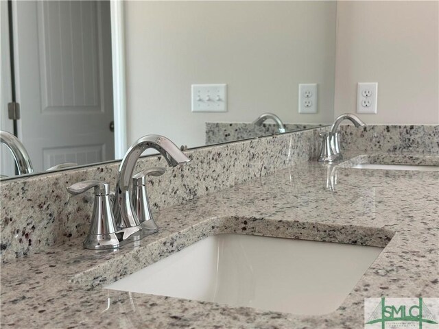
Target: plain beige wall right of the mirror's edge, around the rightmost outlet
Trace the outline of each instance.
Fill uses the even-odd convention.
[[[357,82],[378,82],[366,123],[439,123],[439,2],[339,1],[335,116],[356,111]]]

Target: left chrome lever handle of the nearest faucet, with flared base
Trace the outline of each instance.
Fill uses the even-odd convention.
[[[91,215],[91,226],[83,243],[86,249],[102,250],[119,247],[115,217],[110,205],[110,188],[99,180],[84,180],[67,187],[67,191],[78,195],[95,188],[95,204]]]

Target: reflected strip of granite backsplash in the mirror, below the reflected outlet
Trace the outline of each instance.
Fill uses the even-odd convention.
[[[286,132],[304,130],[323,125],[318,123],[285,123]],[[206,122],[206,145],[239,141],[246,138],[268,136],[278,133],[275,123],[263,123],[260,126],[245,122]]]

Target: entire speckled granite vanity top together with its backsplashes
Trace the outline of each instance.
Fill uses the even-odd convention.
[[[191,162],[147,181],[158,232],[109,251],[82,247],[93,199],[71,197],[66,187],[90,178],[114,182],[119,163],[1,182],[1,326],[364,328],[364,298],[437,297],[438,171],[353,167],[437,167],[438,126],[342,126],[344,158],[331,165],[317,161],[319,134],[327,131],[185,151]],[[137,169],[164,164],[149,156]],[[383,249],[324,314],[104,289],[217,234]],[[241,284],[251,288],[251,276]],[[302,304],[313,303],[304,293]]]

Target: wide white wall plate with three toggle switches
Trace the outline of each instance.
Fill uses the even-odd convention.
[[[226,84],[193,84],[192,112],[227,112]]]

